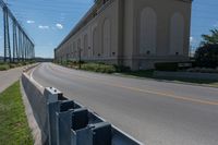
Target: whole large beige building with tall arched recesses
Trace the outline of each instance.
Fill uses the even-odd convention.
[[[189,59],[192,0],[101,0],[55,49],[56,60],[152,69]]]

